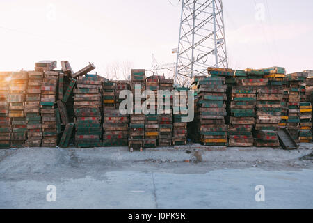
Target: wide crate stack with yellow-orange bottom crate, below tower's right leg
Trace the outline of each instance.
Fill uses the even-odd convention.
[[[224,72],[224,71],[223,71]],[[198,77],[195,80],[195,130],[205,146],[226,146],[225,77]]]

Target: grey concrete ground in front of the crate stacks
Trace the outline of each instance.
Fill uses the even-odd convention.
[[[312,148],[0,150],[0,208],[313,208]]]

